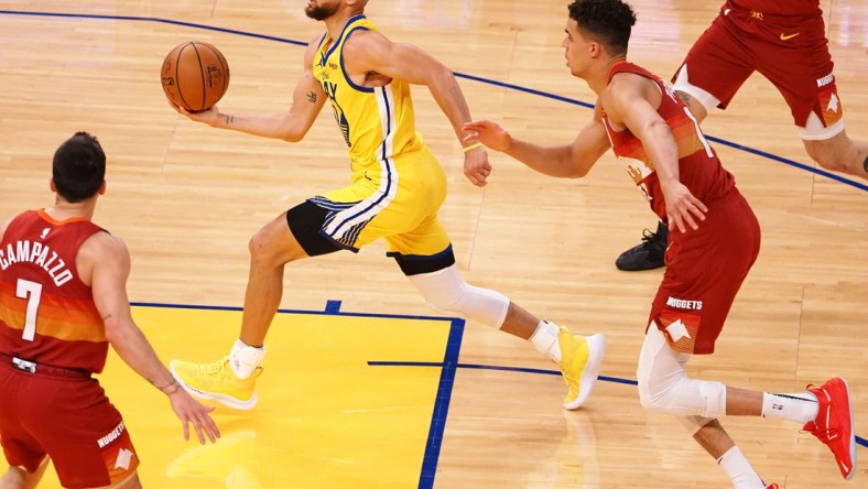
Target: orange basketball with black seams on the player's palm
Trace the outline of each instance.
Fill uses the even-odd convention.
[[[163,59],[166,97],[191,112],[210,109],[229,88],[229,65],[216,47],[200,41],[177,45]]]

